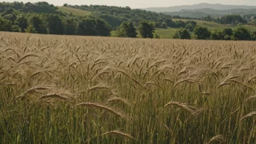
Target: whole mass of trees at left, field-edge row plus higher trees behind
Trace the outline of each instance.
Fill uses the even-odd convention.
[[[111,36],[111,26],[93,15],[64,15],[55,11],[56,7],[47,2],[0,4],[0,31]]]

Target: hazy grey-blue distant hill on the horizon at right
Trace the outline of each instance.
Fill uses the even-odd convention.
[[[256,6],[245,6],[245,5],[225,5],[225,4],[193,4],[183,5],[175,7],[150,7],[145,10],[152,12],[180,12],[183,9],[215,9],[215,10],[230,10],[230,9],[256,9]]]

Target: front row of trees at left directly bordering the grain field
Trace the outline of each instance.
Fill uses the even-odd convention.
[[[97,17],[60,17],[55,14],[19,14],[15,18],[0,17],[0,31],[111,36],[111,26]]]

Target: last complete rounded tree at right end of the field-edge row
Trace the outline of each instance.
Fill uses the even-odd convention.
[[[234,40],[250,40],[251,34],[247,28],[237,27],[233,31]]]

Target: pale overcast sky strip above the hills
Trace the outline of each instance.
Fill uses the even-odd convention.
[[[3,1],[3,0],[0,0]],[[37,2],[40,0],[4,0],[7,2],[23,1],[23,2]],[[63,4],[81,5],[81,4],[103,4],[109,6],[121,6],[132,8],[146,8],[146,7],[172,7],[185,4],[231,4],[231,5],[252,5],[256,6],[255,0],[41,0],[47,1],[49,4],[62,6]]]

